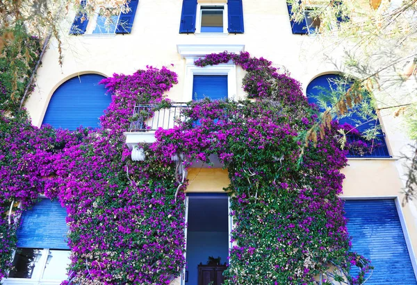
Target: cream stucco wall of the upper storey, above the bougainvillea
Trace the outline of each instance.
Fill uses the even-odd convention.
[[[61,83],[89,72],[111,76],[131,74],[148,64],[167,66],[179,76],[179,83],[168,95],[174,101],[182,101],[185,60],[177,53],[177,44],[245,44],[245,50],[252,55],[268,58],[282,70],[288,69],[304,88],[318,74],[334,70],[332,64],[323,63],[322,54],[318,53],[322,46],[313,44],[318,42],[314,37],[291,33],[285,1],[244,0],[243,12],[244,34],[215,37],[179,34],[181,1],[177,0],[141,0],[130,35],[67,35],[73,12],[62,23],[63,67],[58,65],[58,48],[52,41],[38,70],[35,91],[26,103],[33,124],[40,126],[47,103]],[[238,78],[243,75],[238,69]],[[244,96],[240,83],[237,96]]]

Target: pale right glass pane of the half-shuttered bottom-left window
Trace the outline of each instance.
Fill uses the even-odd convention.
[[[47,265],[43,279],[60,279],[67,277],[67,267],[70,264],[70,250],[49,250]]]

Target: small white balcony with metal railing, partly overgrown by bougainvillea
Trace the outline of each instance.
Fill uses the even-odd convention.
[[[133,109],[133,118],[126,136],[126,145],[129,149],[137,144],[152,144],[155,139],[155,131],[158,128],[165,130],[174,128],[185,120],[181,110],[188,108],[186,103],[172,103],[170,107],[156,109],[155,103],[139,103]]]

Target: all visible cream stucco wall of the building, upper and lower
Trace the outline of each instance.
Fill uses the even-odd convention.
[[[40,126],[49,100],[56,88],[65,80],[77,74],[97,73],[111,76],[113,73],[131,74],[146,65],[167,66],[175,71],[179,83],[172,87],[167,96],[181,102],[185,95],[184,78],[186,60],[177,53],[177,44],[244,44],[245,51],[256,57],[271,60],[275,67],[288,70],[293,78],[305,88],[320,74],[335,71],[326,55],[340,54],[341,47],[322,45],[314,36],[293,35],[288,21],[285,1],[243,0],[245,33],[238,35],[186,35],[179,34],[181,16],[179,0],[140,0],[130,35],[67,35],[74,12],[63,21],[63,67],[58,65],[58,48],[55,41],[42,59],[38,70],[36,87],[26,103],[33,124]],[[173,66],[171,65],[173,64]],[[238,68],[237,97],[245,96],[241,79],[245,72]],[[395,121],[397,120],[397,121]],[[391,153],[399,155],[407,142],[401,131],[401,123],[391,114],[382,118],[384,130],[389,138]],[[403,182],[400,180],[401,167],[395,160],[351,159],[343,173],[344,197],[398,196]],[[222,169],[190,169],[188,192],[222,192],[229,184],[227,171]],[[404,221],[417,250],[417,210],[409,204],[403,207]]]

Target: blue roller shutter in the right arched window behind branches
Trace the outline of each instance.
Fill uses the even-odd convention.
[[[323,93],[323,89],[329,90],[330,88],[336,90],[337,85],[335,81],[341,80],[341,76],[337,74],[326,74],[323,76],[318,76],[311,80],[311,83],[307,86],[306,89],[306,95],[309,103],[315,103],[318,104],[318,97],[320,94]],[[346,84],[346,90],[349,89],[350,85]],[[320,112],[324,112],[325,109],[320,107]],[[340,124],[348,123],[352,126],[356,126],[357,130],[359,132],[363,132],[365,130],[370,130],[372,128],[375,128],[375,126],[379,126],[379,119],[377,121],[371,120],[370,118],[362,118],[359,116],[359,112],[352,112],[350,116],[347,116],[343,119],[339,119],[338,122]],[[358,125],[358,126],[357,126]],[[348,141],[350,139],[354,139],[353,137],[347,137]],[[361,157],[391,157],[389,155],[388,148],[386,146],[384,134],[378,135],[375,139],[375,143],[381,144],[379,148],[375,148],[372,153],[368,153],[366,155],[362,155]],[[359,155],[356,155],[355,153],[349,153],[350,157],[359,157]]]

